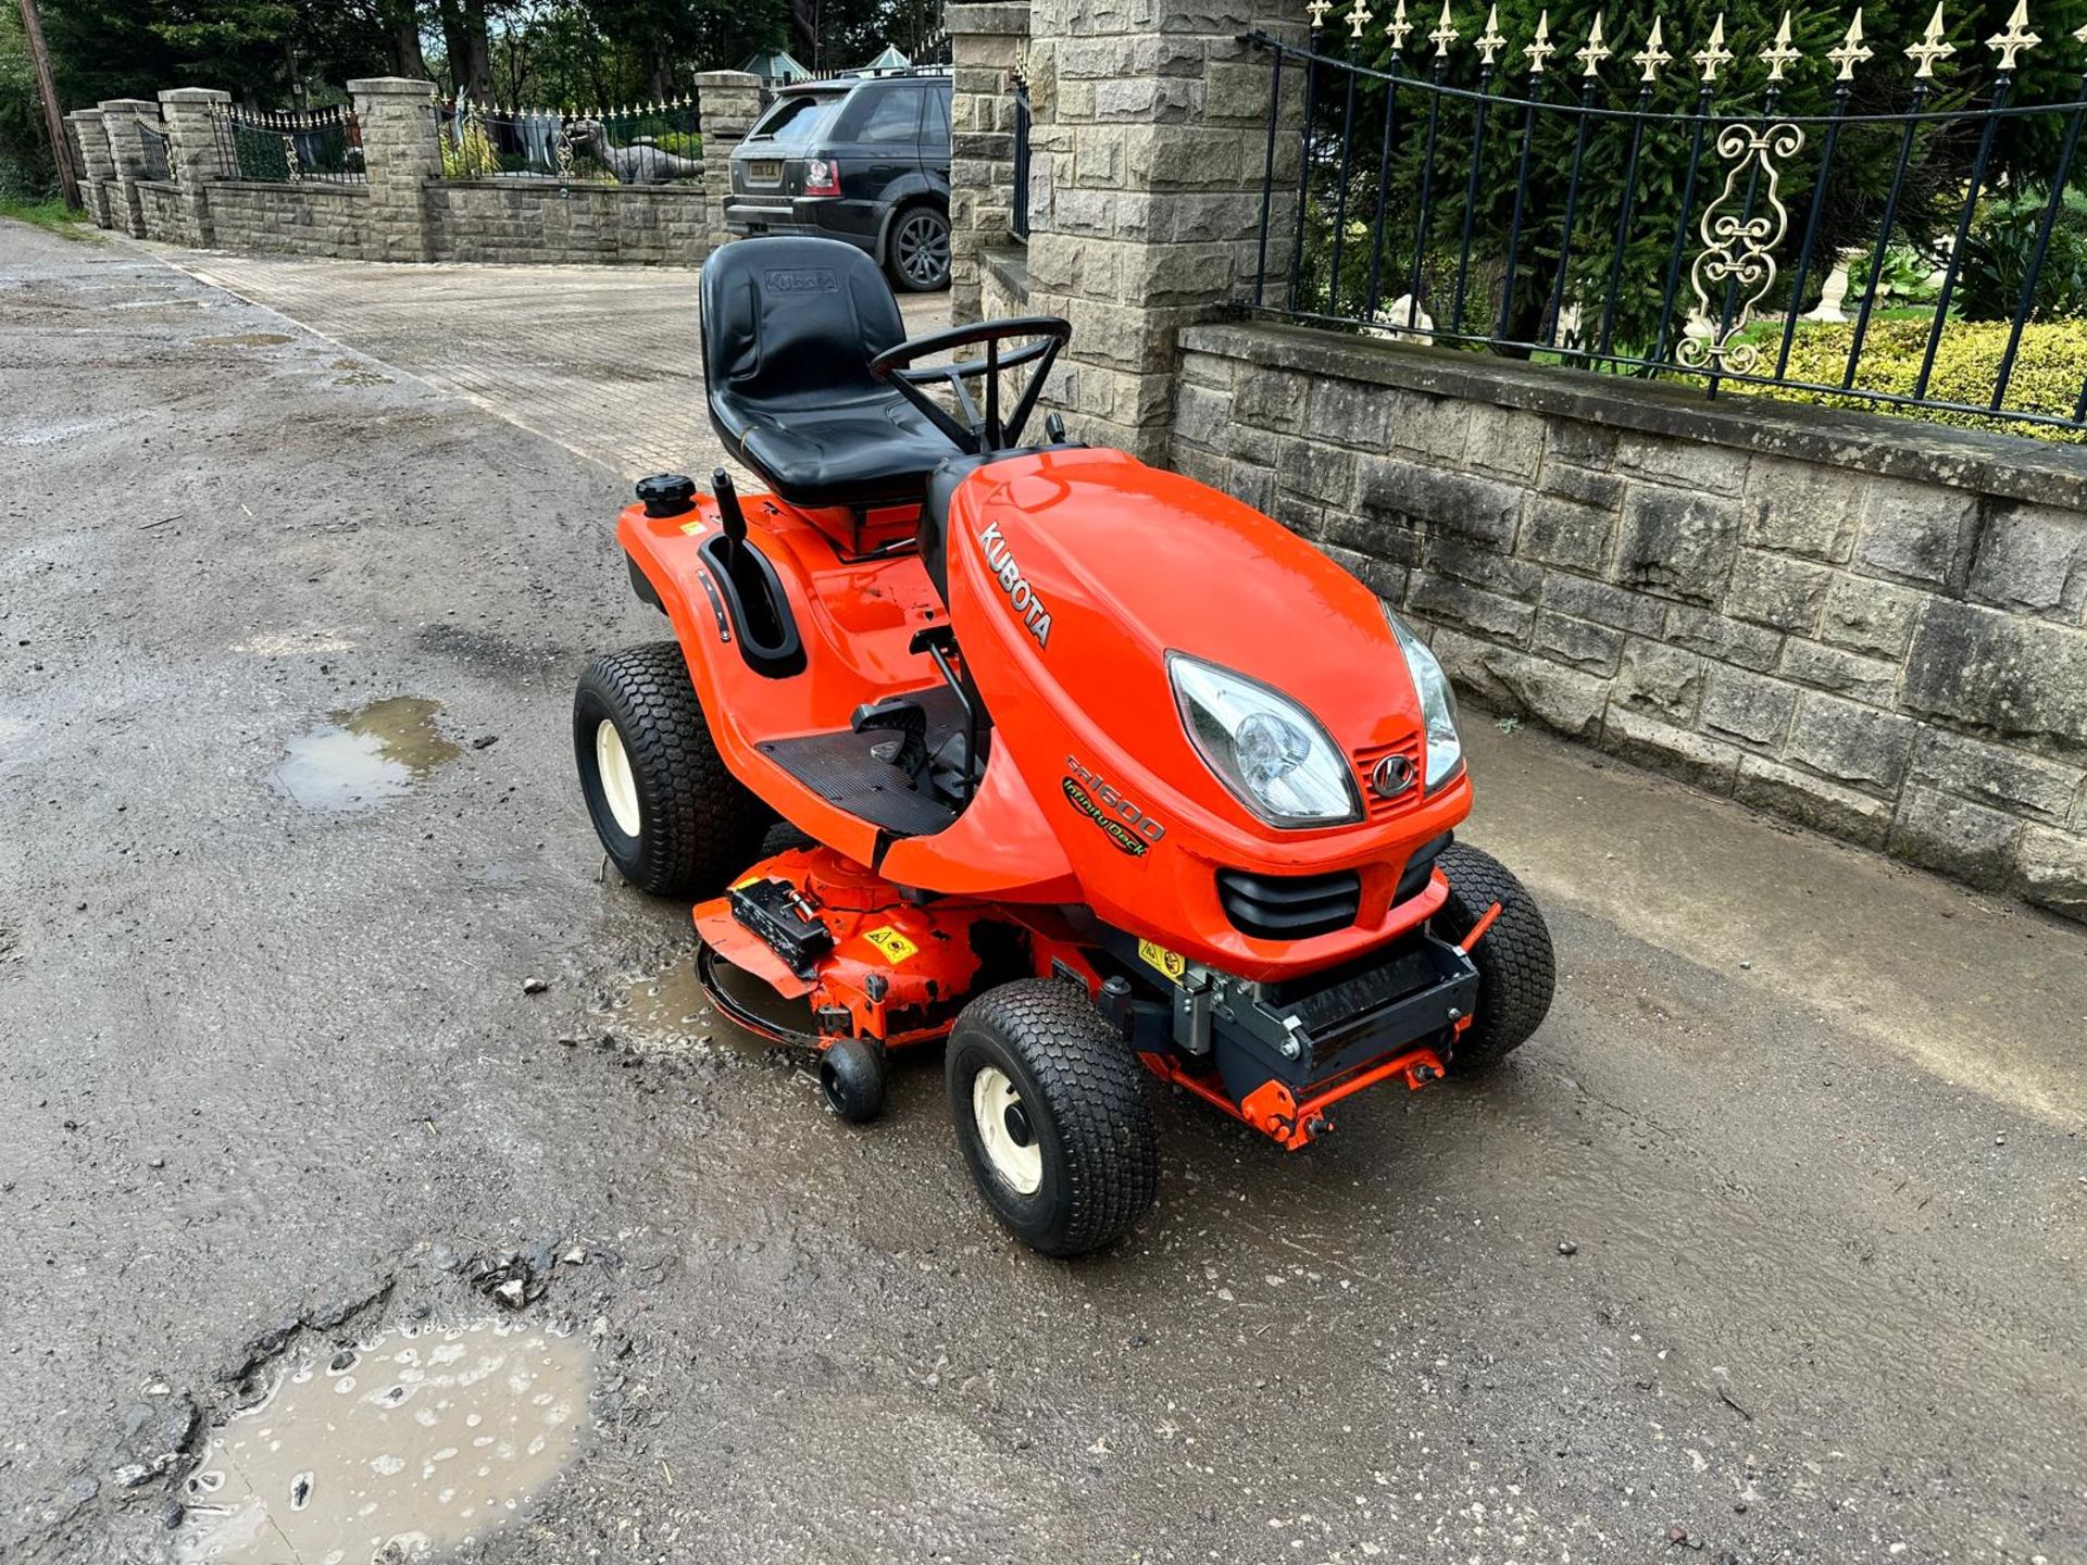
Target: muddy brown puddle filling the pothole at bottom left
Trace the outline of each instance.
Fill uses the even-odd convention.
[[[211,1431],[184,1565],[397,1565],[511,1521],[586,1434],[580,1338],[507,1321],[386,1331]]]

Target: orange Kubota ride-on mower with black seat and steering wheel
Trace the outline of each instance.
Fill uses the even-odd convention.
[[[639,484],[674,641],[586,670],[574,747],[624,878],[697,899],[716,1004],[816,1048],[841,1118],[943,1043],[979,1191],[1071,1256],[1152,1204],[1140,1064],[1294,1150],[1536,1029],[1542,914],[1453,841],[1448,682],[1367,586],[1056,417],[1025,444],[1060,319],[902,340],[835,240],[728,244],[701,294],[772,492]]]

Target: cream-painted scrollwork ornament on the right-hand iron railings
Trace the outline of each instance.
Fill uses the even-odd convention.
[[[1797,125],[1778,123],[1755,129],[1753,125],[1726,125],[1718,131],[1718,156],[1730,163],[1724,175],[1724,190],[1718,200],[1703,209],[1703,252],[1688,269],[1688,284],[1697,296],[1697,319],[1709,323],[1709,332],[1684,336],[1674,351],[1674,359],[1688,369],[1720,369],[1741,376],[1753,374],[1761,363],[1761,348],[1755,342],[1738,342],[1753,307],[1761,303],[1776,282],[1776,244],[1789,232],[1791,213],[1778,194],[1782,173],[1776,167],[1789,163],[1803,150],[1805,134]],[[1768,209],[1749,211],[1751,200],[1741,192],[1749,169],[1759,169],[1766,182],[1761,192]],[[1730,323],[1724,321],[1724,292],[1741,290],[1743,298],[1732,309]],[[1711,292],[1720,294],[1711,307]]]

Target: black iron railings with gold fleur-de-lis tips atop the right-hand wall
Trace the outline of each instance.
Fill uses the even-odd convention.
[[[1419,63],[1405,0],[1382,29],[1354,0],[1346,40],[1327,10],[1306,48],[1246,38],[1271,61],[1250,309],[2087,438],[2087,27],[2035,54],[2020,0],[1981,56],[1941,6],[1891,52],[1860,10],[1718,15],[1670,71],[1657,17],[1624,54],[1599,15],[1517,44],[1492,6],[1459,48],[1444,2]]]

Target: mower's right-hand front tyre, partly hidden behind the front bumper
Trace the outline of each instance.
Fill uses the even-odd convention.
[[[1448,901],[1432,920],[1438,937],[1463,945],[1486,910],[1501,904],[1501,916],[1471,947],[1478,1012],[1450,1060],[1450,1075],[1467,1077],[1496,1066],[1538,1029],[1551,1012],[1557,958],[1536,899],[1492,853],[1450,843],[1436,868],[1448,881]]]

